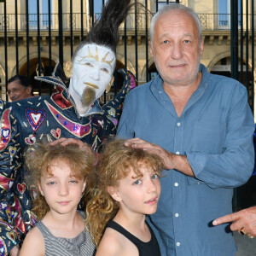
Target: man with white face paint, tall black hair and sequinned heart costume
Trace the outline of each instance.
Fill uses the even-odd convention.
[[[101,107],[97,99],[112,83],[116,62],[118,28],[125,20],[131,0],[109,0],[87,38],[73,55],[73,72],[67,90],[56,76],[37,78],[54,84],[51,96],[37,96],[23,101],[0,102],[0,253],[17,255],[19,247],[36,218],[31,212],[32,200],[26,188],[26,170],[22,153],[28,145],[40,140],[49,142],[62,137],[78,138],[96,152],[109,135],[115,134],[125,94],[135,85],[131,73],[121,71],[122,90]],[[36,195],[33,195],[36,196]]]

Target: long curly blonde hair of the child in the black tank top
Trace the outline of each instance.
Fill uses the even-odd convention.
[[[126,177],[131,170],[138,176],[142,166],[150,166],[160,175],[163,162],[159,156],[148,154],[139,148],[125,147],[125,140],[113,140],[103,148],[96,172],[88,184],[90,201],[86,205],[85,224],[98,247],[108,221],[119,210],[119,203],[108,193],[108,187],[116,187],[119,180]]]

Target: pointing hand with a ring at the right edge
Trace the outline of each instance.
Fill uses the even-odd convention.
[[[256,207],[250,207],[239,212],[234,212],[215,219],[212,224],[219,225],[228,222],[233,222],[230,225],[230,230],[237,230],[240,233],[242,229],[248,236],[256,236]]]

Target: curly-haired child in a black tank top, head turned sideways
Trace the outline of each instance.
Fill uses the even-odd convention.
[[[160,247],[145,215],[157,209],[160,172],[157,155],[126,148],[124,140],[106,143],[101,154],[86,224],[96,243],[96,256],[160,255]]]

